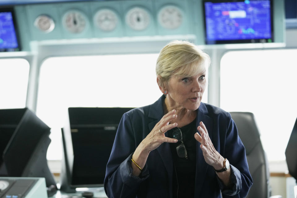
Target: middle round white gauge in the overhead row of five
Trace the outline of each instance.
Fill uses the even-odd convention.
[[[97,11],[93,20],[96,27],[106,32],[114,30],[118,24],[117,14],[110,9]]]

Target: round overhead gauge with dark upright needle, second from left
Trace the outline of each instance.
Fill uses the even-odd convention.
[[[62,23],[66,30],[78,34],[86,28],[87,17],[80,11],[71,10],[64,14]]]

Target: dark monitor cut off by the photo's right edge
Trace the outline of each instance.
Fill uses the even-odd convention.
[[[289,173],[297,180],[297,118],[285,151]]]

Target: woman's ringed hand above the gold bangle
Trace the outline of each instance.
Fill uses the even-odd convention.
[[[175,110],[171,110],[167,114],[165,114],[161,120],[155,125],[153,130],[147,135],[144,140],[142,140],[142,144],[146,152],[151,152],[154,149],[157,149],[163,142],[176,143],[177,139],[169,138],[165,136],[165,133],[176,127],[177,123],[170,123],[171,120],[175,119],[177,114],[175,114]]]

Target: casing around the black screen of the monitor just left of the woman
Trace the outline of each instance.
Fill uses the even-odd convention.
[[[87,129],[87,128],[105,128],[113,127],[115,129],[107,129],[107,131],[114,131],[118,128],[118,124],[124,113],[134,109],[129,107],[69,107],[68,118],[62,128],[62,170],[61,170],[61,188],[63,192],[75,192],[75,188],[80,187],[103,187],[104,181],[98,183],[76,183],[80,176],[75,175],[73,171],[75,168],[73,137],[71,130]],[[112,118],[112,119],[110,119]],[[105,130],[105,129],[104,129]],[[103,131],[103,130],[102,130]],[[115,135],[115,134],[114,134]],[[112,141],[113,144],[114,140]],[[106,151],[104,151],[106,152]],[[85,159],[87,161],[91,161]],[[105,172],[105,170],[104,170]]]

